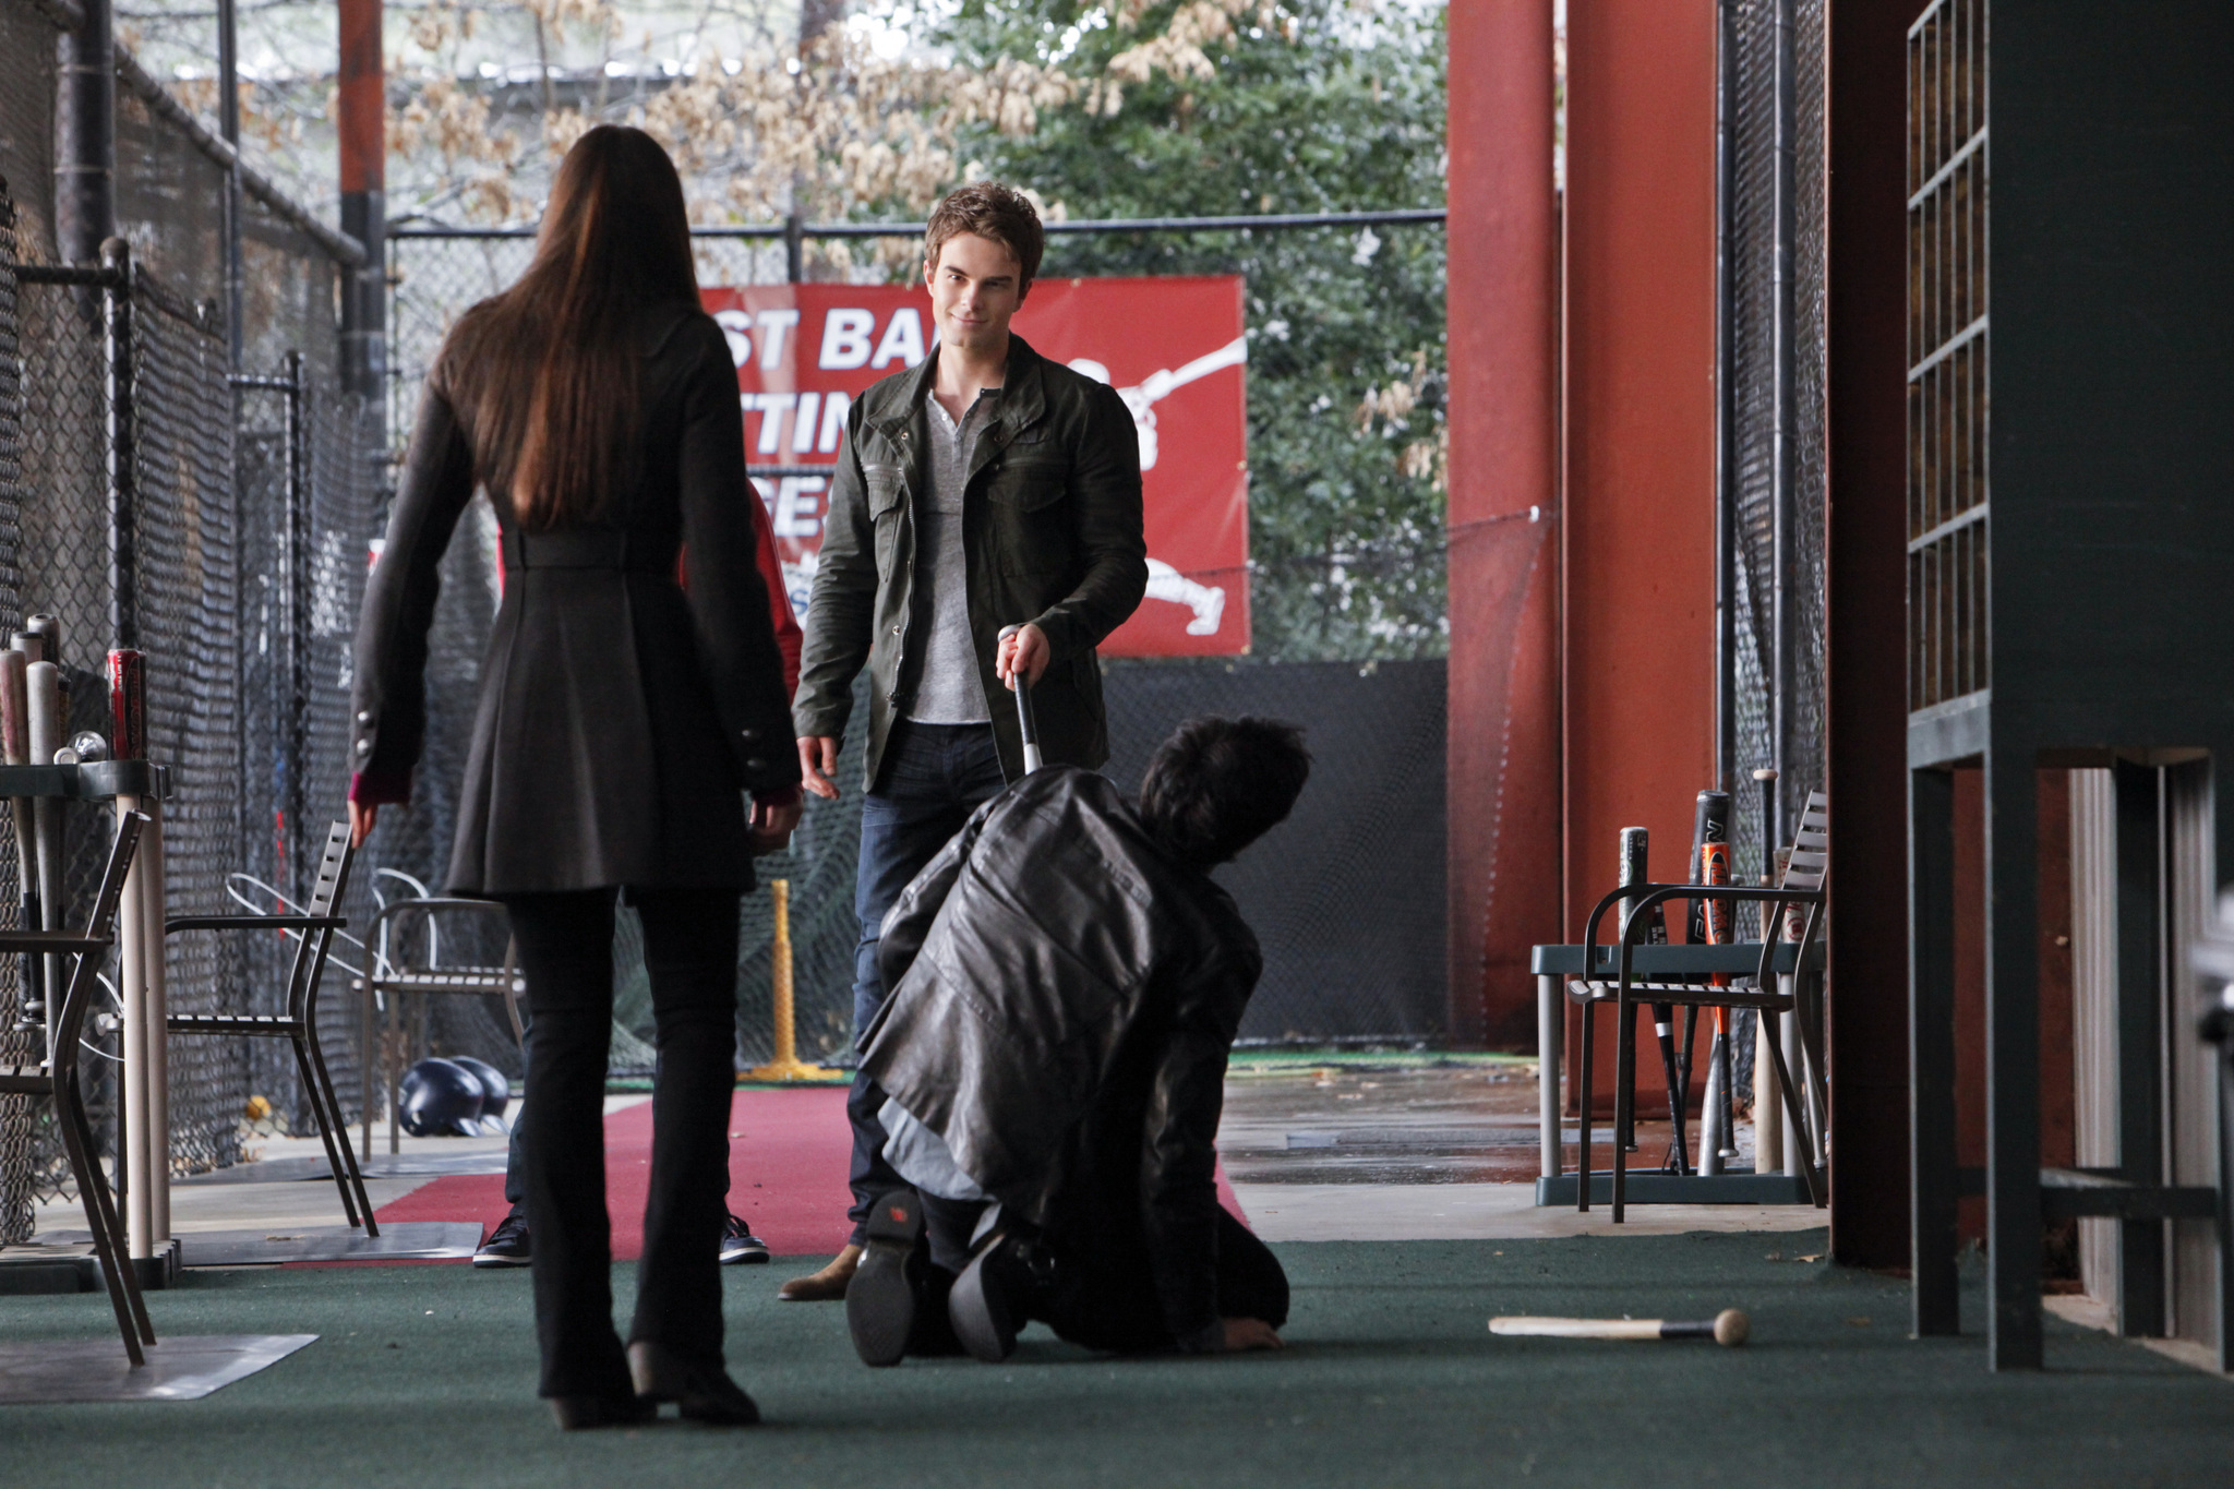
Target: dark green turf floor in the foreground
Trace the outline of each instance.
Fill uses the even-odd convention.
[[[2051,1371],[1906,1337],[1906,1286],[1821,1232],[1280,1246],[1293,1348],[1106,1360],[1032,1331],[1005,1366],[867,1371],[795,1270],[731,1268],[735,1375],[771,1424],[561,1435],[527,1277],[462,1266],[194,1272],[174,1333],[324,1335],[201,1402],[0,1406],[0,1485],[2234,1485],[2234,1386],[2051,1322]],[[621,1268],[626,1281],[628,1268]],[[1975,1295],[1970,1304],[1975,1306]],[[1754,1344],[1495,1339],[1490,1313],[1707,1315]],[[1975,1315],[1973,1315],[1975,1317]],[[0,1299],[89,1337],[98,1297]]]

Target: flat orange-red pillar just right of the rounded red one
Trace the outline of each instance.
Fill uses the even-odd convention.
[[[1693,797],[1716,784],[1716,0],[1575,0],[1566,25],[1573,940],[1613,886],[1620,830],[1651,828],[1653,877],[1678,877]],[[1613,1060],[1600,1072],[1611,1105]],[[1640,1060],[1640,1109],[1660,1087],[1660,1063]]]

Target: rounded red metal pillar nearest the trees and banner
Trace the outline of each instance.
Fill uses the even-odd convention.
[[[1550,0],[1450,7],[1450,1020],[1535,1047],[1559,935]]]

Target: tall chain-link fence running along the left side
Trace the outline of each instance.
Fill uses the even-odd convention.
[[[337,384],[335,288],[346,243],[259,181],[241,203],[235,373],[226,301],[228,152],[130,56],[118,58],[118,263],[58,266],[54,31],[0,7],[0,625],[60,621],[74,730],[107,732],[103,661],[118,627],[147,654],[150,755],[172,768],[172,913],[217,913],[302,891],[346,792],[346,641],[375,518],[380,440]],[[112,475],[112,455],[116,473]],[[130,545],[116,549],[118,534]],[[109,815],[65,808],[58,918],[83,915]],[[16,920],[13,822],[0,815],[0,918]],[[349,906],[366,909],[360,888]],[[172,938],[174,1011],[281,1011],[293,947]],[[331,1000],[328,1058],[353,1089],[355,1018]],[[22,980],[0,964],[0,1063],[36,1060]],[[248,1096],[281,1123],[306,1105],[270,1040],[174,1040],[172,1168],[232,1163]],[[114,1031],[89,1038],[96,1130],[114,1134]],[[67,1190],[22,1098],[0,1098],[0,1241]]]

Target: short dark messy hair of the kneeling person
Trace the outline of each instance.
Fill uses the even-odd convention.
[[[1309,775],[1296,723],[1188,719],[1148,761],[1139,815],[1166,853],[1209,868],[1285,822]]]

